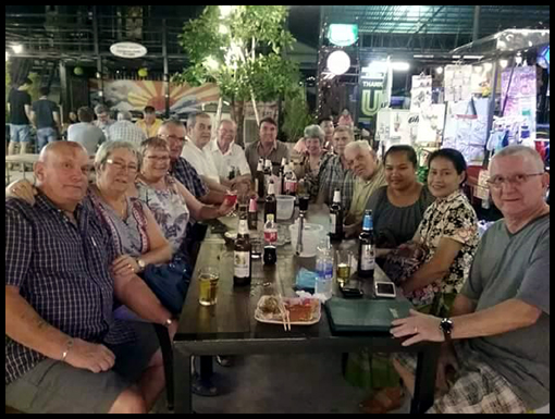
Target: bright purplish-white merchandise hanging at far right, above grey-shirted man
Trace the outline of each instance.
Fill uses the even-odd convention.
[[[503,72],[501,77],[502,115],[520,120],[515,143],[534,147],[536,74],[535,66],[519,66]],[[509,141],[513,144],[511,141]]]

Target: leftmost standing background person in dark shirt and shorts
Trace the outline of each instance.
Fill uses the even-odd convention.
[[[20,153],[28,152],[30,141],[30,95],[27,93],[33,82],[30,78],[22,81],[16,89],[8,96],[8,112],[10,112],[10,145],[8,155],[16,153],[15,146],[20,145]]]

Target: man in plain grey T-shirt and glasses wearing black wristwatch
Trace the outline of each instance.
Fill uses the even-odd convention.
[[[489,184],[505,218],[483,236],[451,319],[411,311],[393,322],[404,346],[445,342],[443,395],[429,412],[523,414],[550,403],[548,174],[535,150],[510,146],[492,159]],[[394,363],[412,392],[415,359]]]

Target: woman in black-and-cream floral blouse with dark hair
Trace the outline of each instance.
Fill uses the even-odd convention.
[[[454,149],[429,159],[428,187],[436,201],[424,213],[415,242],[428,248],[424,263],[400,287],[420,311],[446,315],[470,271],[478,247],[478,218],[461,192],[467,164]]]

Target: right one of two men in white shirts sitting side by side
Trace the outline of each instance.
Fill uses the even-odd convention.
[[[235,187],[239,183],[250,184],[251,181],[245,151],[235,144],[236,135],[235,122],[222,120],[218,128],[218,137],[210,144],[220,182],[227,187]]]

